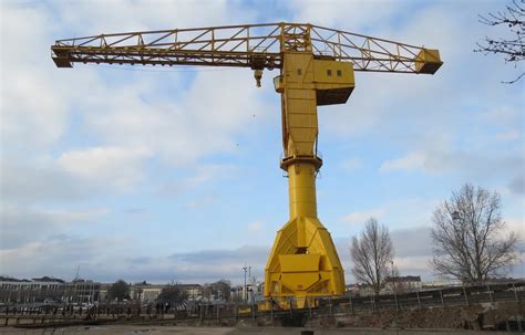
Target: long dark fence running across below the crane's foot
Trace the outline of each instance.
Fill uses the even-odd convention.
[[[186,302],[183,305],[141,305],[137,302],[74,305],[4,305],[0,306],[0,325],[53,324],[60,322],[112,322],[194,320],[230,321],[265,317],[294,320],[296,316],[358,314],[382,310],[409,310],[426,306],[459,306],[495,302],[523,302],[525,281],[498,284],[444,287],[404,294],[308,297],[306,308],[297,310],[296,299],[262,301],[251,304],[233,302]],[[302,304],[301,304],[302,305]]]

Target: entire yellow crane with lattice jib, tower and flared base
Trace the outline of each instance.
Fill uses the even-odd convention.
[[[317,216],[317,106],[344,104],[354,71],[434,74],[437,50],[301,23],[173,29],[59,40],[58,67],[73,63],[250,67],[257,86],[264,70],[278,69],[288,222],[277,232],[265,269],[265,297],[281,307],[344,293],[333,241]]]

